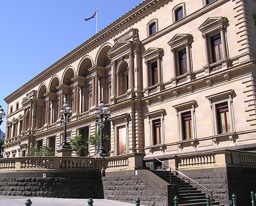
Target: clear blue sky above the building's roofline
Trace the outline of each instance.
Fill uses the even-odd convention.
[[[139,5],[142,0],[0,1],[0,105],[28,80]],[[1,129],[5,131],[5,122]]]

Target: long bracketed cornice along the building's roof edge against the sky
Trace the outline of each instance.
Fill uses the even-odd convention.
[[[134,7],[130,11],[128,11],[126,14],[121,16],[121,18],[117,19],[98,33],[94,35],[93,37],[89,38],[87,41],[79,45],[78,47],[74,48],[70,53],[53,63],[51,66],[46,68],[46,70],[39,73],[37,76],[23,84],[19,89],[12,92],[10,95],[4,98],[4,100],[9,104],[9,102],[12,99],[15,99],[19,97],[19,95],[22,95],[25,93],[25,91],[32,89],[35,87],[35,84],[42,80],[43,78],[49,76],[50,74],[56,72],[58,69],[61,69],[65,64],[70,62],[71,60],[74,60],[82,53],[88,52],[89,49],[95,48],[102,40],[107,40],[107,38],[111,38],[111,35],[120,29],[124,29],[124,27],[127,27],[127,25],[131,24],[132,22],[138,21],[138,19],[142,18],[142,14],[146,15],[148,12],[152,10],[152,8],[162,5],[165,2],[169,2],[173,0],[145,0],[141,4],[139,4],[137,7]]]

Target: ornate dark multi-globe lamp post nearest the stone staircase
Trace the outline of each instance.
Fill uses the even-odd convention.
[[[110,113],[110,109],[108,105],[104,105],[103,101],[100,101],[99,106],[95,109],[93,115],[96,117],[95,122],[97,125],[99,125],[100,129],[100,147],[99,151],[97,151],[95,156],[100,156],[100,157],[109,157],[109,154],[104,150],[103,147],[103,128],[104,128],[104,122],[107,121],[108,119],[108,114]],[[103,117],[105,116],[104,120]],[[100,117],[100,122],[99,118]]]

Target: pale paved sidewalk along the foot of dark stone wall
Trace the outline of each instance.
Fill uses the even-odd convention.
[[[45,198],[45,197],[21,197],[21,196],[0,196],[1,206],[24,206],[25,201],[31,199],[32,206],[87,206],[88,199],[65,199],[65,198]],[[114,200],[93,199],[94,206],[135,206],[126,202]]]

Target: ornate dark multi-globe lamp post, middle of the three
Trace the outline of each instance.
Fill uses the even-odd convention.
[[[64,103],[61,111],[59,111],[59,115],[61,115],[61,118],[64,119],[64,121],[63,121],[64,132],[63,132],[62,144],[58,148],[71,149],[71,147],[67,143],[67,123],[68,123],[68,118],[71,115],[71,113],[72,113],[72,108],[70,107],[70,105],[66,101]]]

